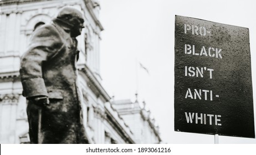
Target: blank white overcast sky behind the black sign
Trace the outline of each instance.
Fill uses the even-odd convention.
[[[255,101],[256,2],[253,0],[101,0],[100,4],[100,21],[105,29],[100,43],[103,85],[115,100],[134,101],[138,90],[139,100],[146,101],[160,126],[163,141],[214,143],[213,135],[174,131],[175,14],[249,28]],[[149,74],[139,68],[136,76],[136,60]],[[256,140],[219,136],[219,143],[256,143]]]

